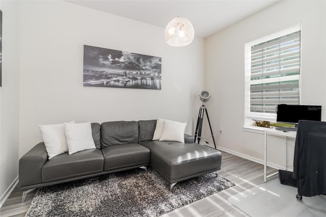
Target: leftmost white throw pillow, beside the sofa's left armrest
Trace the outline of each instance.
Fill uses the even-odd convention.
[[[74,123],[71,121],[69,123]],[[49,160],[68,151],[64,123],[58,125],[39,125]]]

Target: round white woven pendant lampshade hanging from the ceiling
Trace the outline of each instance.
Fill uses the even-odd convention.
[[[195,30],[192,23],[184,17],[174,18],[165,29],[165,41],[174,47],[192,43],[194,36]]]

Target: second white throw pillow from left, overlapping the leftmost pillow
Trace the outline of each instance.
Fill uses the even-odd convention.
[[[69,154],[96,148],[90,122],[65,123],[65,134],[67,137]]]

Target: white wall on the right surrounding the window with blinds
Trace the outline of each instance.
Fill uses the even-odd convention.
[[[322,105],[326,119],[325,4],[282,1],[206,39],[205,81],[212,95],[208,110],[218,146],[263,159],[263,135],[242,130],[244,43],[297,21],[302,23],[302,104]]]

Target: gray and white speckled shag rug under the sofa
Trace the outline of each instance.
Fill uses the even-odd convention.
[[[233,185],[209,173],[170,192],[151,167],[134,169],[40,188],[26,216],[159,216]]]

